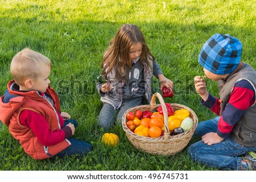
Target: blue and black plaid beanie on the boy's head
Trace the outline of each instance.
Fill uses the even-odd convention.
[[[232,73],[241,60],[242,44],[229,34],[216,33],[203,45],[198,62],[214,74]]]

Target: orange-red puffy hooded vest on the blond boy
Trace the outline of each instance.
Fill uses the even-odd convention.
[[[46,93],[53,99],[54,107],[47,99],[40,96],[36,91],[18,92],[10,89],[10,81],[7,84],[10,94],[20,95],[10,99],[9,103],[3,103],[3,96],[0,98],[0,120],[3,124],[9,126],[9,132],[22,145],[24,151],[34,159],[46,159],[56,155],[66,149],[70,143],[67,139],[52,146],[43,146],[35,134],[27,126],[19,122],[19,115],[24,109],[29,109],[40,113],[46,118],[51,130],[61,129],[63,123],[60,123],[57,113],[60,113],[60,103],[56,92],[49,86]]]

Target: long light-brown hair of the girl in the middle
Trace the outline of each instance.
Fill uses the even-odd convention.
[[[103,56],[101,68],[103,69],[102,74],[105,78],[110,71],[114,70],[115,79],[123,79],[121,70],[127,71],[132,67],[130,48],[134,43],[142,44],[141,58],[139,61],[146,62],[148,67],[152,69],[148,58],[154,61],[155,57],[150,53],[141,29],[134,24],[125,24],[110,41],[109,48]]]

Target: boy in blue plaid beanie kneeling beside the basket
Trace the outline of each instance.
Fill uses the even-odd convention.
[[[218,115],[199,122],[195,135],[201,141],[188,148],[195,162],[220,170],[256,168],[256,71],[242,63],[242,44],[228,34],[214,34],[203,45],[199,64],[218,83],[220,98],[210,95],[204,78],[194,78],[201,104]],[[243,156],[244,155],[244,156]]]

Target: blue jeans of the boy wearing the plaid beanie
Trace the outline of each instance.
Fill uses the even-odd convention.
[[[199,122],[194,136],[216,132],[219,120],[220,117],[214,117],[211,120]],[[242,146],[231,137],[211,146],[199,141],[188,147],[188,155],[194,162],[200,162],[203,165],[216,167],[220,170],[242,170],[246,168],[246,166],[242,166],[241,156],[249,151],[256,151],[256,147]]]

